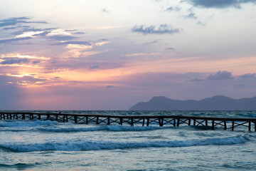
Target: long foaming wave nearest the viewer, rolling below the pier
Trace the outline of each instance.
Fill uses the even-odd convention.
[[[152,142],[104,142],[69,140],[66,142],[46,143],[7,143],[0,144],[1,150],[11,152],[35,152],[35,151],[87,151],[87,150],[116,150],[116,149],[137,149],[149,147],[191,147],[202,145],[235,145],[248,141],[255,141],[252,135],[238,135],[229,138],[208,138],[203,140],[171,140]]]

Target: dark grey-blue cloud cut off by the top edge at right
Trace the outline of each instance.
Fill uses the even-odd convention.
[[[240,8],[241,4],[245,3],[256,3],[255,0],[184,0],[193,4],[193,6],[203,7],[203,8],[215,8],[215,9],[225,9],[229,7]]]

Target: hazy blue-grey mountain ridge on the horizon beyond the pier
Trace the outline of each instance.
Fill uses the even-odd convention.
[[[256,110],[256,97],[235,100],[216,95],[203,100],[172,100],[159,96],[137,103],[129,110]]]

